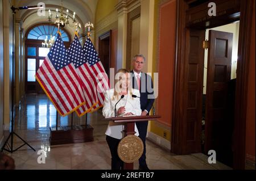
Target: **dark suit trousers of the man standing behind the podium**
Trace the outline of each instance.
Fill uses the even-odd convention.
[[[139,131],[139,138],[141,138],[143,145],[144,145],[144,150],[143,154],[141,155],[141,158],[139,158],[139,166],[147,166],[146,163],[146,136],[147,136],[147,125],[148,121],[141,121],[141,122],[136,122],[136,126]]]

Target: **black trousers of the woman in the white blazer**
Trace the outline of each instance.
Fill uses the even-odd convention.
[[[106,136],[106,141],[108,142],[109,149],[111,152],[111,169],[112,170],[123,170],[123,161],[118,157],[117,147],[121,140],[116,138]]]

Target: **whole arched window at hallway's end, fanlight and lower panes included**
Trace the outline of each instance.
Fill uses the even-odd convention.
[[[34,27],[31,27],[26,33],[26,63],[25,63],[25,86],[26,86],[26,94],[36,93],[43,94],[44,91],[36,82],[35,73],[42,65],[44,58],[47,56],[49,52],[49,48],[43,48],[42,43],[46,36],[48,36],[48,40],[50,36],[55,36],[57,38],[58,28],[54,24],[38,24]],[[65,30],[60,30],[61,38],[64,41],[64,45],[66,48],[70,45],[71,37],[69,33]]]

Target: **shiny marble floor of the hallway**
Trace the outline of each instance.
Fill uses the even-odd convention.
[[[28,146],[23,146],[13,154],[9,154],[15,160],[16,169],[111,169],[110,151],[105,141],[105,130],[108,124],[102,120],[100,110],[88,114],[87,118],[87,123],[94,128],[93,142],[55,146],[50,146],[48,139],[49,127],[56,125],[56,110],[45,95],[27,95],[15,109],[15,115],[15,132],[36,149],[33,151]],[[80,119],[73,115],[74,125],[84,123],[85,117]],[[71,116],[58,116],[57,124],[70,125]],[[22,143],[14,137],[15,148]],[[207,155],[202,153],[175,155],[150,141],[146,141],[146,148],[147,164],[152,170],[231,169],[219,162],[209,164]],[[46,162],[41,164],[38,163],[40,150],[44,150],[46,157]],[[134,169],[138,169],[138,162],[134,163]]]

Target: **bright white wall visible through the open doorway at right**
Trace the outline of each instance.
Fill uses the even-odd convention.
[[[240,25],[240,22],[230,23],[230,24],[226,24],[224,26],[207,29],[205,32],[205,40],[208,40],[209,30],[233,33],[231,79],[234,79],[237,77],[236,70],[237,70],[239,25]],[[206,89],[207,89],[207,69],[206,69],[207,68],[207,60],[208,60],[208,49],[206,49],[205,53],[204,53],[204,90],[203,90],[203,94],[206,94]]]

